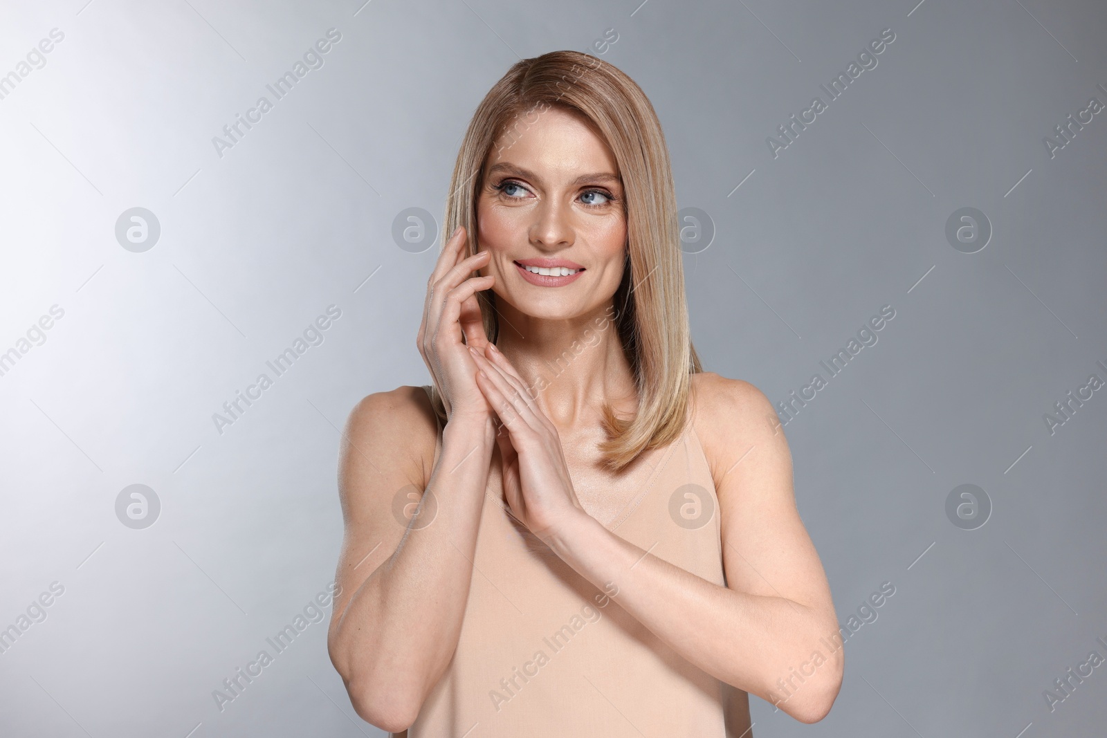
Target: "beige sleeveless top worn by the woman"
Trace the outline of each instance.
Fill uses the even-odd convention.
[[[435,462],[441,453],[439,424]],[[691,417],[631,469],[612,492],[625,503],[600,522],[725,585],[718,500]],[[685,661],[517,522],[498,465],[473,564],[457,649],[407,738],[752,738],[746,693]]]

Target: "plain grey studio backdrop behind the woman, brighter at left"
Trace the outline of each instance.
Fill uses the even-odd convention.
[[[850,637],[825,720],[752,698],[754,734],[1104,731],[1107,666],[1043,697],[1107,656],[1107,392],[1043,419],[1107,380],[1107,112],[1043,143],[1107,104],[1104,3],[86,2],[0,11],[0,74],[64,33],[0,100],[0,352],[64,310],[0,376],[0,627],[64,586],[0,654],[4,736],[380,735],[324,623],[221,713],[211,693],[333,576],[350,408],[428,381],[436,249],[401,249],[393,219],[441,219],[513,62],[590,48],[650,96],[681,207],[713,221],[685,256],[708,370],[785,401],[896,311],[785,428],[840,620],[896,594]],[[220,156],[213,137],[331,28],[324,65]],[[766,137],[886,28],[878,65],[774,158]],[[134,207],[161,225],[144,252],[115,238]],[[963,207],[993,229],[975,253],[945,238]],[[323,343],[218,433],[331,304]],[[134,484],[161,501],[145,529],[115,512]],[[945,513],[962,484],[993,507],[976,530]]]

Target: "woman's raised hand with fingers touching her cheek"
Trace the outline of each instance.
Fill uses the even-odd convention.
[[[449,419],[488,420],[494,413],[477,386],[477,366],[468,346],[483,353],[488,344],[476,293],[490,288],[495,278],[469,277],[488,263],[488,251],[462,259],[465,242],[465,228],[458,228],[438,256],[427,280],[423,322],[415,342]]]

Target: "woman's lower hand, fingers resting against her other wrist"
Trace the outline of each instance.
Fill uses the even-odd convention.
[[[495,344],[470,349],[477,386],[507,433],[496,435],[503,459],[504,496],[511,512],[542,541],[580,513],[557,428],[531,398],[515,367]]]

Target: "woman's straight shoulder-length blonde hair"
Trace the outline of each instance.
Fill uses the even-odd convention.
[[[689,418],[691,375],[702,372],[692,345],[669,149],[649,98],[627,74],[596,56],[551,51],[519,60],[485,95],[462,142],[446,198],[443,243],[458,226],[477,252],[476,198],[496,142],[509,148],[537,116],[558,106],[581,116],[611,148],[625,193],[627,268],[612,320],[631,365],[638,412],[617,417],[603,405],[607,467],[619,471],[643,450],[680,437]],[[441,251],[441,250],[439,250]],[[477,293],[488,340],[499,335],[495,293]],[[609,311],[610,315],[610,311]],[[432,397],[446,413],[437,387]]]

